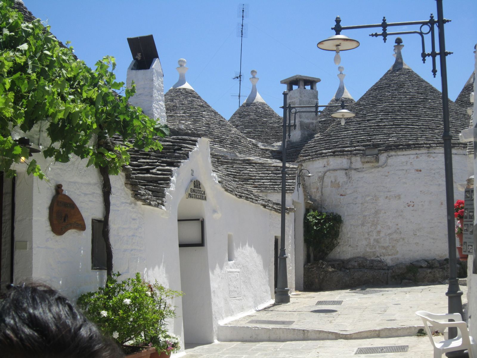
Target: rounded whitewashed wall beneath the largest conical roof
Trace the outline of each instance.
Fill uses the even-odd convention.
[[[314,175],[307,180],[310,197],[343,219],[328,259],[364,256],[392,265],[448,256],[442,149],[381,153],[378,164],[335,157],[303,167]],[[465,182],[466,150],[453,150],[453,167],[455,184]]]

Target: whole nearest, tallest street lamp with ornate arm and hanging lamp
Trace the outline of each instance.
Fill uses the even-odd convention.
[[[459,289],[459,283],[457,279],[457,259],[456,259],[456,235],[455,235],[455,222],[454,222],[454,179],[452,173],[452,136],[450,134],[449,126],[449,105],[448,105],[448,94],[447,94],[447,67],[446,67],[446,56],[452,52],[446,51],[446,43],[444,37],[444,24],[450,20],[444,19],[443,9],[442,9],[442,0],[436,0],[437,3],[437,20],[434,19],[434,16],[431,14],[429,20],[426,21],[408,21],[408,22],[386,22],[386,18],[383,18],[383,22],[380,24],[371,24],[371,25],[357,25],[357,26],[341,26],[341,19],[339,16],[336,17],[336,24],[332,27],[332,30],[335,31],[335,35],[329,37],[328,39],[321,41],[317,44],[318,48],[322,50],[334,51],[339,56],[339,49],[341,50],[351,50],[359,46],[359,42],[353,39],[350,39],[346,36],[341,35],[342,30],[352,30],[352,29],[365,29],[373,27],[381,27],[383,32],[381,33],[371,33],[370,36],[378,37],[382,36],[384,42],[389,35],[404,35],[404,34],[418,34],[421,36],[422,42],[422,61],[425,63],[427,57],[432,57],[432,73],[436,77],[436,57],[439,56],[440,59],[440,68],[441,68],[441,82],[442,82],[442,113],[443,113],[443,122],[444,122],[444,162],[445,162],[445,171],[446,171],[446,208],[447,208],[447,240],[449,247],[449,287],[446,292],[448,297],[448,313],[460,313],[462,316],[462,291]],[[402,31],[402,32],[387,32],[389,26],[408,26],[408,25],[420,25],[419,31]],[[438,42],[439,42],[439,52],[436,52],[436,25],[438,32]],[[423,31],[423,28],[425,31]],[[425,43],[424,35],[431,33],[431,52],[425,52]],[[335,56],[336,63],[336,56]],[[454,338],[457,336],[457,328],[449,328],[449,338]],[[450,355],[446,354],[448,357]]]

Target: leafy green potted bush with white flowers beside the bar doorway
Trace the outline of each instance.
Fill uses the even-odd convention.
[[[180,339],[167,332],[166,324],[176,317],[170,300],[182,293],[146,282],[140,273],[123,281],[119,276],[113,274],[105,287],[81,295],[78,306],[129,358],[168,357],[178,351]]]

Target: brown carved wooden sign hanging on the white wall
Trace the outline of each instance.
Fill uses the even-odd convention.
[[[85,231],[83,215],[74,203],[74,201],[66,194],[63,194],[62,185],[56,186],[56,195],[50,204],[50,226],[52,232],[62,235],[68,230]]]

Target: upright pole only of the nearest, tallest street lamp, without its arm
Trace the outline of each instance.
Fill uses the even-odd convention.
[[[437,2],[437,24],[439,26],[439,58],[441,63],[442,80],[442,112],[444,118],[444,161],[446,168],[446,200],[447,200],[447,240],[449,244],[449,287],[446,292],[448,297],[448,312],[462,312],[462,291],[459,288],[457,279],[457,258],[456,258],[456,232],[454,218],[454,179],[452,174],[452,136],[449,125],[449,103],[447,94],[447,66],[446,66],[446,42],[444,40],[444,14],[442,10],[442,0]],[[453,320],[452,320],[453,321]],[[457,337],[457,328],[449,328],[449,338]]]

